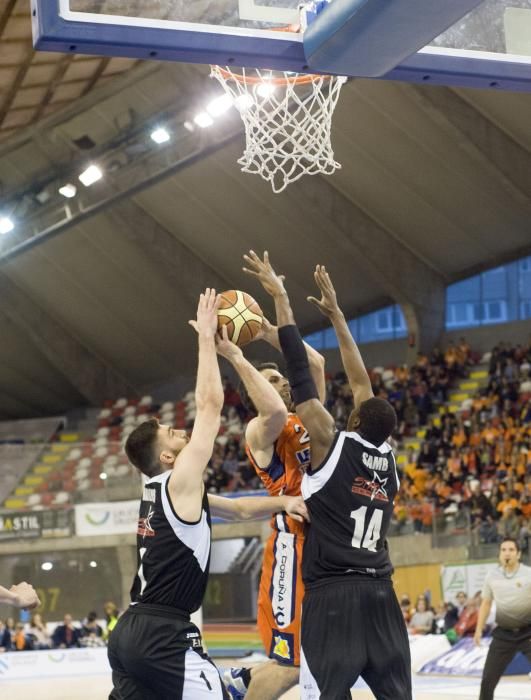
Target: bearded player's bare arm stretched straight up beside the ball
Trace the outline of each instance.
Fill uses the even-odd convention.
[[[220,298],[207,289],[199,298],[197,320],[190,324],[197,331],[199,361],[195,388],[196,417],[190,442],[177,456],[170,477],[172,500],[196,492],[203,485],[203,472],[212,456],[223,407],[223,387],[216,354],[217,309]]]

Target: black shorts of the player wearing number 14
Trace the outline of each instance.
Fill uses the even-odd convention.
[[[304,597],[301,698],[350,699],[359,676],[377,700],[411,700],[402,611],[388,579],[329,579]]]

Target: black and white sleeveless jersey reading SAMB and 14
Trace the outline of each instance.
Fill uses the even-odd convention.
[[[391,446],[336,434],[324,462],[302,480],[310,512],[302,575],[306,586],[337,576],[389,577],[386,535],[399,488]]]

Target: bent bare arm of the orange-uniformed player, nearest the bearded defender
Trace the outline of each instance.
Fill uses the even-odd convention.
[[[248,362],[240,348],[231,343],[227,327],[221,329],[221,338],[217,340],[218,354],[228,360],[242,380],[258,415],[253,418],[245,431],[245,437],[256,457],[257,452],[271,450],[288,417],[288,411],[280,395],[267,379]],[[272,454],[266,457],[271,459]]]

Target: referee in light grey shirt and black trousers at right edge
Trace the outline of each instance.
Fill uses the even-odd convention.
[[[510,537],[500,544],[499,560],[500,566],[485,579],[474,635],[480,645],[495,602],[496,627],[483,668],[480,700],[493,700],[494,690],[517,652],[531,661],[531,567],[520,563],[520,547]]]

